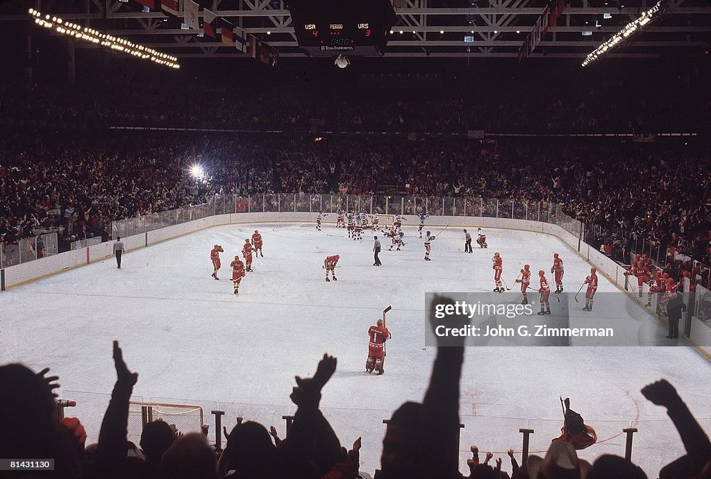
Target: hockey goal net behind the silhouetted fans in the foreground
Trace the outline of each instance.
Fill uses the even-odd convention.
[[[129,402],[129,441],[139,443],[143,426],[151,421],[166,421],[183,434],[200,432],[203,427],[203,408],[193,404],[163,402]]]

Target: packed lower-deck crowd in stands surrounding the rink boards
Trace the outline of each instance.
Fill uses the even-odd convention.
[[[703,146],[681,142],[9,130],[0,151],[6,243],[58,227],[63,244],[108,239],[113,220],[198,205],[215,193],[400,188],[417,197],[560,203],[587,222],[586,239],[610,245],[622,262],[628,257],[621,252],[651,252],[662,263],[667,247],[706,265],[711,254],[711,158]],[[193,175],[196,164],[203,178]]]

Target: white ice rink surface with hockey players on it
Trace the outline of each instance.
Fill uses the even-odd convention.
[[[255,271],[235,296],[229,264],[255,229],[264,237],[264,257],[255,259]],[[213,227],[127,252],[120,270],[107,259],[51,276],[0,294],[0,363],[51,367],[60,376],[60,397],[79,403],[67,414],[82,419],[89,441],[96,441],[115,380],[114,339],[129,369],[139,372],[137,399],[198,404],[206,422],[210,409],[223,409],[228,429],[241,414],[274,424],[283,437],[282,414],[294,411],[294,375],[313,374],[328,352],[338,358],[338,369],[321,407],[344,445],[363,436],[361,470],[372,475],[380,463],[382,419],[402,402],[421,401],[427,387],[435,350],[424,345],[425,293],[491,291],[494,251],[501,252],[509,286],[524,263],[531,264],[532,279],[538,269],[548,271],[553,252],[565,261],[568,291],[577,291],[589,271],[559,239],[542,233],[488,230],[488,249],[474,244],[474,253],[464,254],[461,229],[449,228],[432,243],[432,262],[424,262],[417,227],[405,232],[400,252],[387,251],[381,239],[385,250],[378,268],[370,233],[354,242],[333,225],[316,232],[313,224],[259,224]],[[220,281],[210,277],[213,244],[225,249]],[[328,254],[341,255],[338,281],[330,283],[322,269]],[[548,279],[553,289],[550,274]],[[604,276],[599,279],[599,293],[619,291]],[[387,305],[393,338],[386,372],[368,375],[368,326]],[[559,306],[551,306],[555,313]],[[604,304],[596,308],[614,313],[605,312]],[[665,334],[664,325],[642,308],[638,321]],[[461,470],[471,444],[482,453],[494,451],[510,470],[505,451],[520,451],[522,427],[535,429],[532,450],[545,451],[560,434],[562,395],[599,436],[596,445],[580,451],[582,458],[624,455],[621,429],[636,426],[633,459],[656,477],[683,446],[665,410],[639,390],[668,379],[710,432],[710,372],[705,357],[683,346],[467,348]]]

